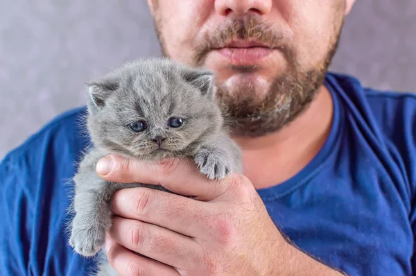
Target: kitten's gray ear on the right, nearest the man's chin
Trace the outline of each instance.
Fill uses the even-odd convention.
[[[214,73],[211,71],[189,70],[184,73],[184,79],[200,89],[202,95],[211,98],[215,94]]]

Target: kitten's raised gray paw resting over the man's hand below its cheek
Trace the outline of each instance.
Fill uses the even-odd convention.
[[[200,148],[195,155],[195,162],[200,172],[210,179],[225,178],[232,170],[227,154],[220,150]]]

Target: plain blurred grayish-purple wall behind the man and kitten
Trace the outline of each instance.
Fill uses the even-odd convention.
[[[0,0],[0,159],[84,105],[86,80],[150,55],[159,45],[145,0]],[[331,69],[416,92],[416,1],[357,0]]]

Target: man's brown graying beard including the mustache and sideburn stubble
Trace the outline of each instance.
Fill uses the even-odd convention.
[[[160,32],[161,23],[162,21],[155,17],[155,29],[162,54],[170,58]],[[205,33],[204,39],[195,46],[192,65],[203,67],[209,51],[223,48],[234,39],[255,40],[281,51],[288,68],[270,80],[269,89],[265,94],[259,94],[257,87],[250,81],[241,81],[232,87],[232,91],[224,84],[216,83],[218,104],[232,135],[261,137],[284,128],[312,103],[338,48],[342,26],[343,21],[338,28],[331,28],[335,35],[323,61],[313,69],[304,70],[297,62],[293,46],[285,43],[284,33],[268,26],[257,15],[239,20],[229,19],[216,31]],[[232,69],[244,74],[256,71],[257,67],[233,66]]]

